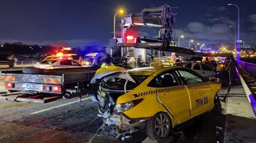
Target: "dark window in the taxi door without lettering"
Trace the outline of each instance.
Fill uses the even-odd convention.
[[[170,87],[179,85],[174,72],[167,71],[156,77],[157,87]]]

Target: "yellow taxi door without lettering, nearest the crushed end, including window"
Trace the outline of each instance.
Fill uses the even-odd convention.
[[[176,120],[191,115],[188,91],[176,78],[174,70],[156,77],[159,101],[172,113]]]

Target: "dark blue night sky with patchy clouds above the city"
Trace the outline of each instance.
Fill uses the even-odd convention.
[[[64,46],[107,46],[113,36],[113,16],[119,8],[125,14],[143,8],[169,4],[177,12],[176,41],[181,45],[195,42],[232,43],[240,7],[240,39],[256,43],[256,1],[254,0],[1,0],[0,44]],[[117,23],[120,16],[117,16]],[[136,27],[128,32],[136,36],[158,35],[159,28]],[[116,31],[120,31],[116,27]]]

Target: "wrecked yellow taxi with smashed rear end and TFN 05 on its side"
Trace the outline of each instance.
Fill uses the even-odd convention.
[[[149,138],[163,141],[178,124],[209,110],[215,115],[222,111],[221,84],[182,66],[106,66],[96,71],[91,84],[98,88],[90,94],[99,103],[98,116],[116,138],[146,128]]]

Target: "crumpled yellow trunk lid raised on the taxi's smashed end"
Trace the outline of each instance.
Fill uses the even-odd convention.
[[[117,66],[106,66],[98,69],[90,83],[93,84],[97,79],[102,78],[122,78],[136,83],[125,69]]]

